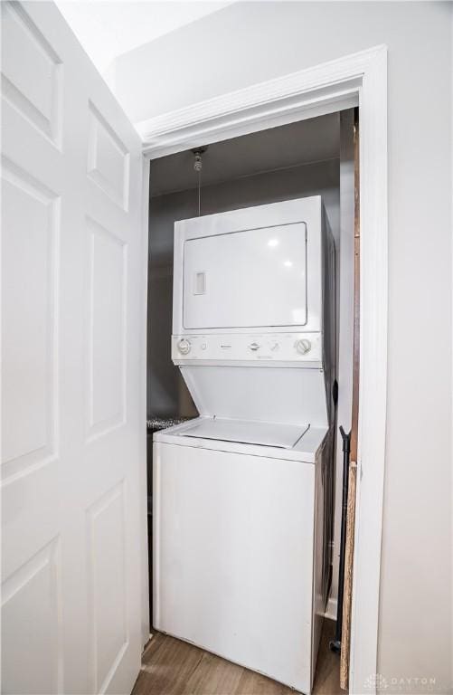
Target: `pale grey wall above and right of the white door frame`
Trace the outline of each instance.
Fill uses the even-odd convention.
[[[451,692],[451,4],[237,3],[121,57],[141,120],[386,43],[389,382],[378,670]],[[393,688],[394,686],[391,686]],[[389,692],[392,690],[386,690]]]

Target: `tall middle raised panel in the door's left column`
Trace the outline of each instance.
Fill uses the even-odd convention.
[[[59,197],[2,161],[3,479],[57,451]]]

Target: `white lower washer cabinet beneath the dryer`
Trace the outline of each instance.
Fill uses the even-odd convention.
[[[205,418],[155,434],[155,627],[309,692],[325,608],[327,430],[280,449],[190,436],[206,424],[214,434]]]

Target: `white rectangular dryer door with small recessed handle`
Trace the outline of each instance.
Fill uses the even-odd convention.
[[[184,243],[184,328],[307,323],[307,224],[245,229]]]

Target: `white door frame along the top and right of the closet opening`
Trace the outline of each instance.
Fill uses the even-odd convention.
[[[375,692],[387,411],[387,47],[136,123],[148,159],[360,108],[360,384],[349,692]],[[147,577],[146,577],[147,581]]]

